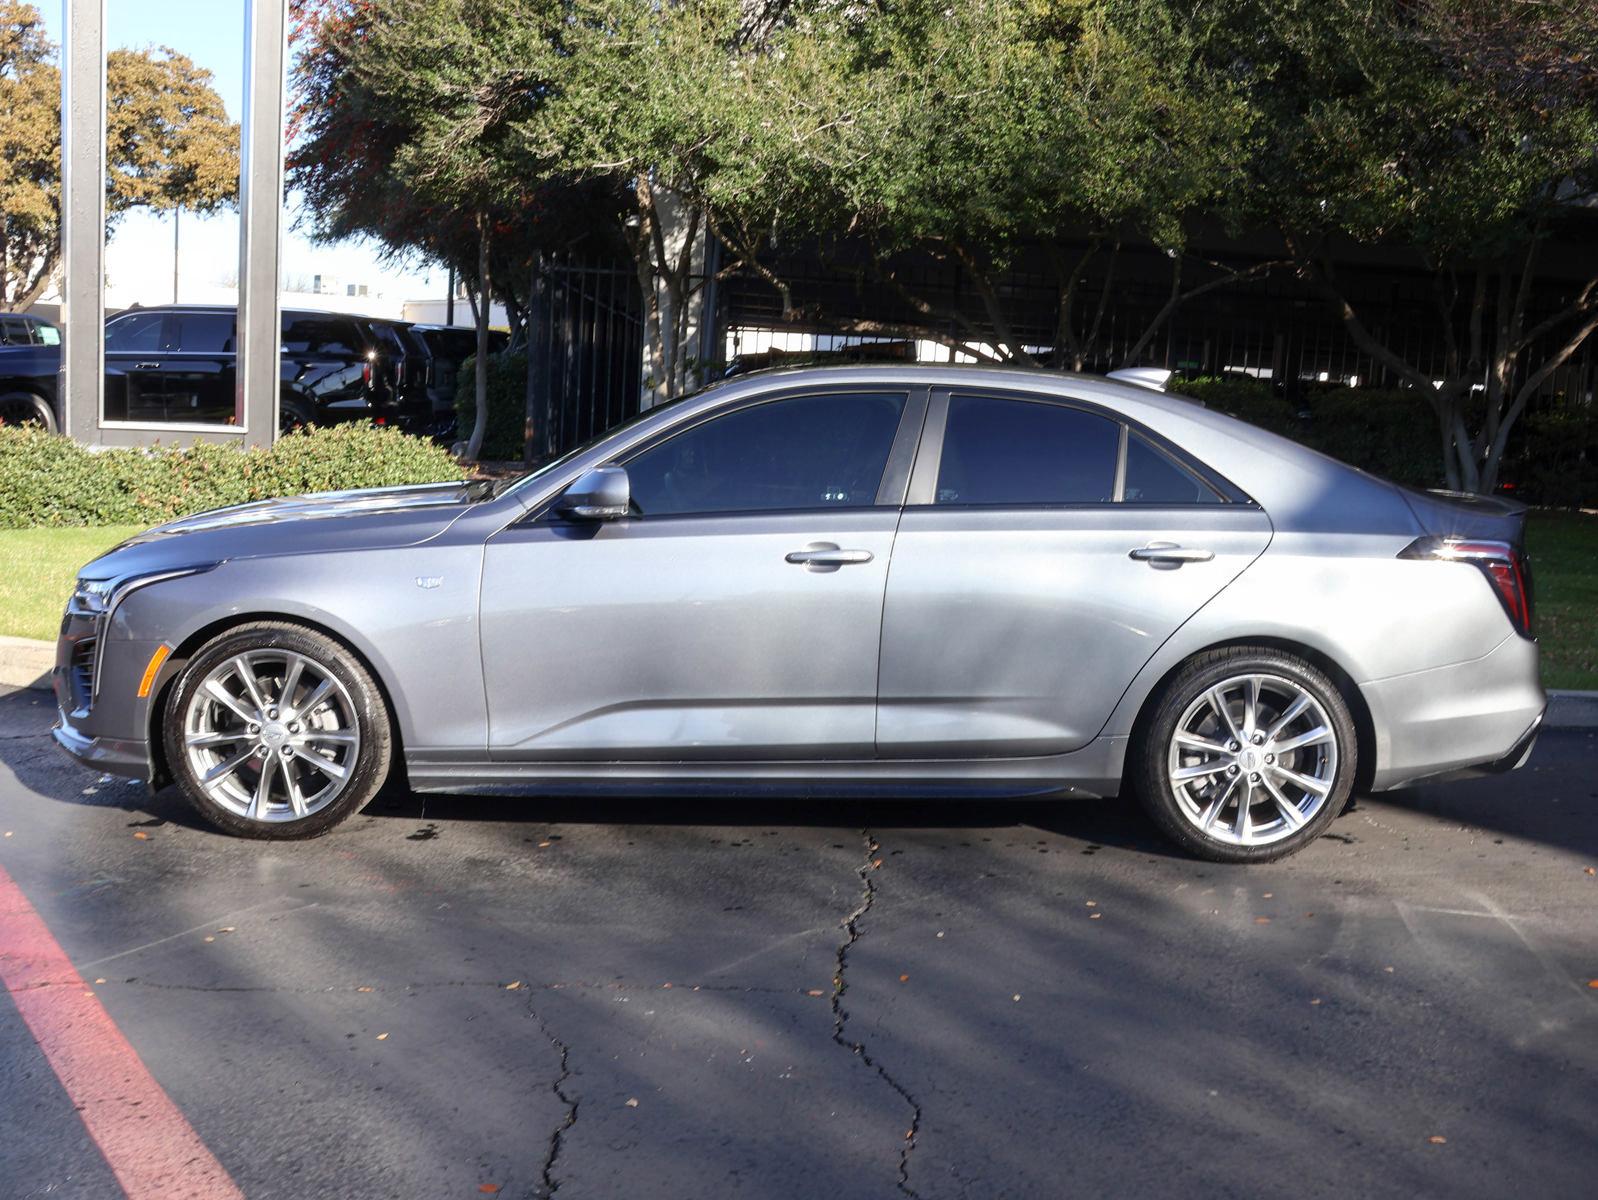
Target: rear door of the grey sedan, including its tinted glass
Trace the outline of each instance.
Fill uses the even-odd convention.
[[[1061,754],[1270,540],[1175,447],[1063,399],[933,393],[882,615],[882,757]]]

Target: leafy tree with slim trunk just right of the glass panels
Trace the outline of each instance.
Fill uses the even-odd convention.
[[[315,236],[425,254],[473,288],[476,419],[487,430],[487,323],[513,313],[543,251],[591,235],[615,205],[532,152],[518,128],[559,66],[545,0],[302,0],[289,179]],[[534,364],[529,361],[529,380]]]

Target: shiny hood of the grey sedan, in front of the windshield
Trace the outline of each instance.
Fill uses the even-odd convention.
[[[481,483],[312,492],[168,521],[83,569],[118,578],[233,558],[382,550],[427,542],[487,497]]]

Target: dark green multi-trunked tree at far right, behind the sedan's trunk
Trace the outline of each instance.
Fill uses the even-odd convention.
[[[1542,259],[1592,225],[1598,11],[1320,0],[1238,14],[1227,61],[1264,129],[1254,219],[1282,230],[1354,344],[1430,404],[1449,486],[1491,492],[1526,404],[1598,329],[1598,275],[1560,281]],[[1430,275],[1440,364],[1352,297],[1338,268],[1350,243]]]

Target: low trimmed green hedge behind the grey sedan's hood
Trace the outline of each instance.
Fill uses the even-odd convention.
[[[369,425],[296,431],[270,451],[89,451],[34,427],[0,427],[0,529],[149,526],[273,495],[460,478],[431,441]]]

